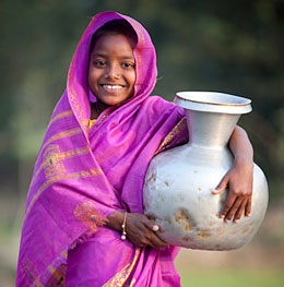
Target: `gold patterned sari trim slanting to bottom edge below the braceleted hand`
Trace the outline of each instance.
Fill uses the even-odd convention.
[[[131,274],[133,267],[135,266],[135,263],[139,259],[141,249],[138,248],[135,250],[135,255],[129,264],[127,264],[119,273],[117,273],[113,278],[110,278],[103,287],[122,287],[126,286],[125,284],[128,280],[129,275]],[[130,286],[134,286],[135,279],[131,280]]]

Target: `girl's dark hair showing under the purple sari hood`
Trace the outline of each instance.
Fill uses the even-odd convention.
[[[125,35],[128,38],[132,49],[137,46],[138,43],[137,33],[126,20],[113,20],[104,24],[94,33],[90,45],[90,55],[93,51],[96,41],[105,35]]]

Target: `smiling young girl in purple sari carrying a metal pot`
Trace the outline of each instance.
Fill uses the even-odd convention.
[[[143,215],[151,159],[188,136],[184,110],[150,97],[156,75],[141,24],[115,12],[94,16],[35,165],[16,286],[180,286],[178,248]],[[252,150],[240,128],[229,147],[235,165],[215,193],[229,184],[222,216],[237,222],[250,213]]]

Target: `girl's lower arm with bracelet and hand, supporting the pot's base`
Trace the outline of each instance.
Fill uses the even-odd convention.
[[[122,231],[125,212],[116,211],[107,216],[107,226],[119,232]],[[155,223],[140,213],[128,213],[126,220],[127,238],[137,247],[150,246],[152,248],[167,247],[156,234],[159,228]]]

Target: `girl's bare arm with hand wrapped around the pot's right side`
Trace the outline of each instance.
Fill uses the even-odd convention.
[[[251,211],[253,150],[247,133],[240,127],[233,131],[228,145],[235,157],[234,165],[212,193],[218,194],[228,187],[229,192],[221,217],[225,223],[233,218],[238,223],[244,212],[249,216]]]

